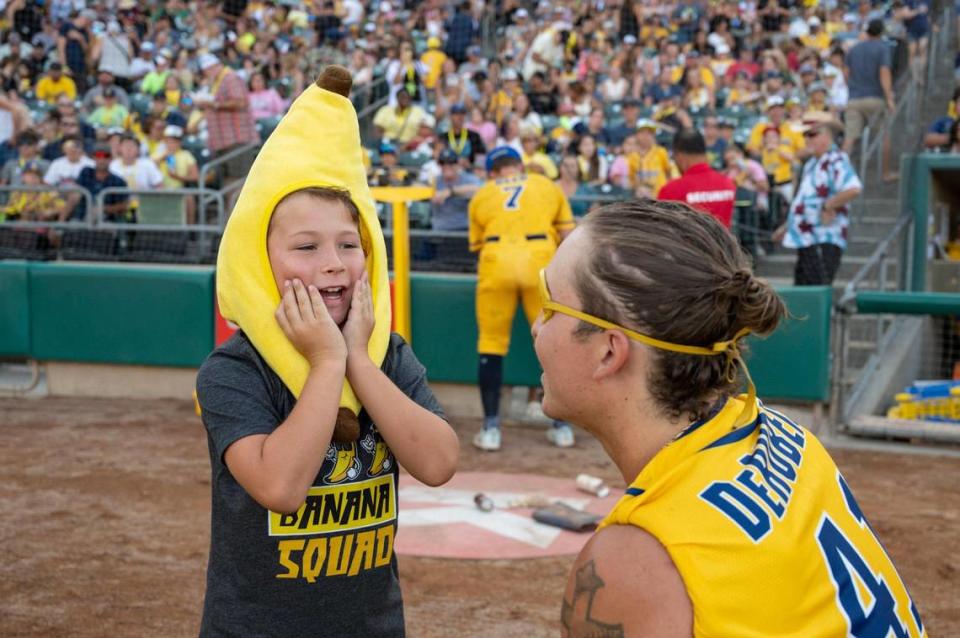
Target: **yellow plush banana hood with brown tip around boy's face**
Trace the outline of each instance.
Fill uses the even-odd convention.
[[[267,257],[270,217],[285,196],[324,186],[350,192],[360,210],[360,230],[370,248],[366,261],[376,324],[368,348],[374,363],[383,363],[390,339],[386,246],[367,186],[357,114],[346,97],[350,85],[346,69],[327,67],[317,83],[293,103],[247,175],[217,256],[221,313],[240,326],[296,397],[306,382],[309,365],[274,317],[280,292]],[[360,411],[360,402],[349,383],[344,383],[340,405],[353,414]]]

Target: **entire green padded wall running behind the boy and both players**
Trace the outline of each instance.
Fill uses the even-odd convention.
[[[413,346],[433,382],[476,383],[476,277],[414,273]],[[39,360],[198,366],[213,349],[213,268],[82,263],[0,264],[0,354]],[[783,288],[793,318],[750,340],[765,399],[829,396],[831,291]],[[26,300],[26,301],[24,301]],[[540,367],[518,311],[508,385],[537,385]]]

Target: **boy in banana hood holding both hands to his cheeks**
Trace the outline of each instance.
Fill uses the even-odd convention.
[[[224,231],[237,334],[197,378],[212,469],[201,636],[402,636],[398,463],[429,485],[456,435],[390,333],[386,251],[351,78],[328,67],[261,149]]]

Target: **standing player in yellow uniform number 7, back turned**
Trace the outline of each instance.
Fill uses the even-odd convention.
[[[470,250],[477,267],[478,381],[483,428],[473,444],[500,449],[500,387],[510,330],[523,303],[533,325],[540,312],[537,274],[574,227],[570,204],[560,187],[543,175],[526,174],[520,154],[500,146],[487,155],[490,181],[470,200]],[[559,447],[574,444],[569,424],[554,422],[547,437]]]

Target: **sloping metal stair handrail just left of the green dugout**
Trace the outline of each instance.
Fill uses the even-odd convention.
[[[835,304],[833,345],[833,388],[830,401],[830,422],[844,424],[866,390],[873,373],[884,360],[899,328],[896,317],[888,315],[857,315],[857,292],[861,290],[905,290],[913,268],[910,241],[913,230],[913,212],[902,215],[893,229],[877,245],[866,263],[853,276]],[[898,266],[897,276],[891,277],[890,266]],[[869,337],[872,336],[872,339]],[[854,366],[854,353],[863,361]],[[848,378],[851,373],[856,378]]]

